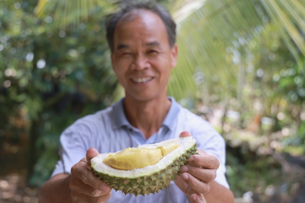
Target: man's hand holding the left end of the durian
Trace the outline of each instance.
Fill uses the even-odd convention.
[[[73,202],[106,202],[111,196],[111,188],[98,179],[90,170],[90,160],[99,152],[89,148],[86,158],[81,159],[71,168],[71,196]]]

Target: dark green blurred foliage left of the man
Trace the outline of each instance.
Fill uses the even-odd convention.
[[[60,132],[109,106],[116,86],[103,20],[58,30],[36,4],[0,1],[0,136],[28,133],[31,185],[50,177]]]

